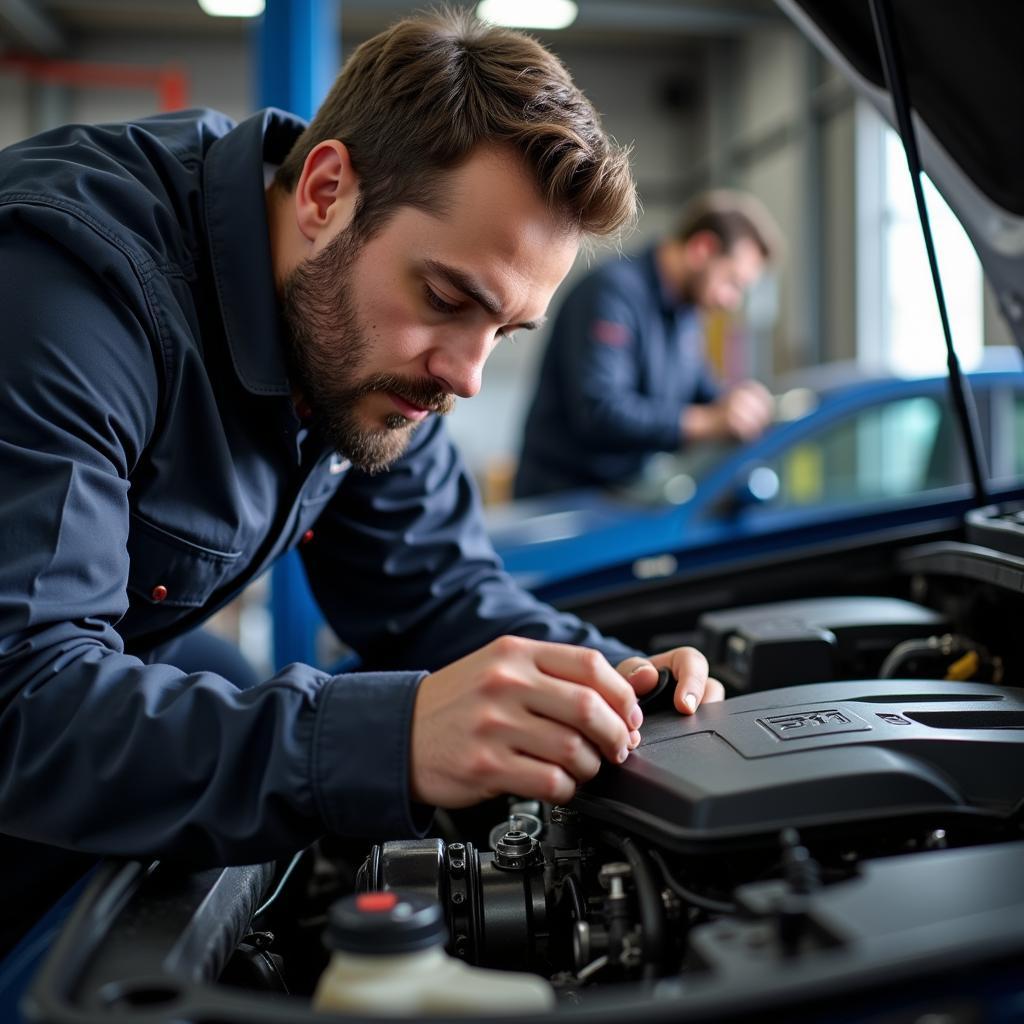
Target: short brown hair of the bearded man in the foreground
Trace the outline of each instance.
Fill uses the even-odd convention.
[[[362,43],[276,183],[293,190],[306,157],[327,139],[344,142],[358,175],[353,227],[364,237],[399,206],[436,212],[440,172],[480,145],[517,153],[571,229],[610,234],[636,217],[628,154],[558,58],[467,12],[406,18]]]

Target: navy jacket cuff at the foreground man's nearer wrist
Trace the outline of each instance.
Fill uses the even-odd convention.
[[[341,836],[423,836],[432,808],[410,794],[413,706],[426,672],[334,676],[321,691],[310,778],[325,826]]]

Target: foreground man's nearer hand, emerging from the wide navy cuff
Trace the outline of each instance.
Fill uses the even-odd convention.
[[[636,691],[598,651],[500,637],[420,684],[413,798],[450,808],[503,793],[566,802],[602,756],[626,760],[642,718]]]

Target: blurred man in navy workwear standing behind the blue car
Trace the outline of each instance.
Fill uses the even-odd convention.
[[[514,494],[614,487],[656,452],[752,440],[771,398],[723,391],[705,358],[702,314],[733,310],[776,258],[779,231],[753,196],[706,193],[675,236],[581,279],[555,317],[526,417]]]

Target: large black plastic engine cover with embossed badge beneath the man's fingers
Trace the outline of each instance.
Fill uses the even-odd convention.
[[[581,810],[681,852],[786,825],[1006,818],[1024,800],[1024,699],[983,683],[817,683],[650,716]]]

